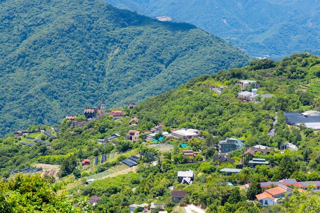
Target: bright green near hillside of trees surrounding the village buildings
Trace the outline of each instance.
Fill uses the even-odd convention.
[[[35,163],[61,164],[49,165],[60,169],[57,173],[60,179],[55,182],[52,177],[50,179],[54,182],[53,189],[58,190],[58,194],[61,191],[70,193],[70,199],[100,196],[101,200],[93,208],[95,212],[108,210],[127,213],[129,205],[133,203],[150,205],[151,202],[165,203],[165,210],[177,212],[178,206],[172,202],[168,189],[171,186],[175,190],[187,191],[186,198],[181,202],[201,206],[208,213],[298,213],[309,212],[310,208],[315,209],[311,212],[318,212],[319,195],[311,190],[299,193],[294,189],[291,197],[270,207],[262,207],[259,202],[255,202],[255,195],[262,192],[260,182],[285,178],[294,178],[297,181],[320,180],[319,132],[303,125],[287,125],[284,116],[284,112],[320,109],[319,65],[320,58],[310,54],[292,55],[281,62],[252,61],[243,68],[193,78],[176,90],[139,103],[132,110],[119,108],[125,112],[126,118],[114,120],[111,116],[104,116],[83,127],[75,128],[71,127],[70,120],[63,120],[58,125],[58,132],[44,125],[31,126],[29,129],[38,129],[38,133],[27,136],[40,137],[51,146],[35,143],[26,136],[9,135],[0,139],[0,175],[17,179],[19,175],[10,175],[9,170],[35,167]],[[236,84],[240,79],[260,81],[258,94],[274,96],[255,102],[241,101],[238,98],[240,87]],[[210,90],[211,86],[222,85],[226,88],[220,95]],[[133,116],[139,118],[139,123],[129,126]],[[276,116],[277,122],[273,123]],[[203,137],[190,140],[165,138],[162,142],[145,141],[146,135],[150,134],[147,131],[158,122],[163,122],[164,130],[169,132],[182,127],[197,128]],[[275,128],[276,135],[268,136],[272,128]],[[41,135],[40,129],[51,131],[57,139]],[[141,131],[140,138],[135,143],[125,138],[129,130]],[[98,143],[98,139],[104,139],[116,132],[121,137],[110,140],[105,146]],[[257,151],[254,154],[254,157],[265,158],[270,165],[256,166],[255,169],[243,167],[241,172],[231,176],[220,172],[222,168],[238,166],[245,149],[243,147],[228,153],[228,157],[234,160],[233,164],[215,165],[213,157],[217,153],[216,145],[226,137],[242,139],[245,148],[257,144],[270,147],[269,152]],[[21,145],[21,142],[34,146]],[[298,150],[286,149],[281,152],[280,145],[286,142],[297,146]],[[182,143],[188,147],[182,148]],[[187,157],[182,154],[182,150],[186,149],[201,150],[201,153],[195,157]],[[138,153],[140,158],[137,167],[129,169],[121,163],[127,157]],[[152,159],[149,154],[154,153],[157,157]],[[102,154],[107,154],[106,163],[100,163]],[[98,165],[93,163],[95,156],[98,157]],[[90,159],[88,166],[81,165],[81,160],[85,158]],[[151,166],[151,161],[159,164]],[[45,164],[42,166],[48,167]],[[178,183],[177,171],[187,169],[195,172],[194,181],[191,185]],[[97,180],[83,185],[89,178]],[[32,178],[33,180],[39,181],[37,176]],[[17,192],[18,187],[8,189],[7,185],[10,185],[11,181],[9,184],[0,181],[0,192]],[[223,184],[225,182],[231,182],[236,187]],[[246,183],[251,183],[248,191],[243,189]],[[52,186],[48,190],[51,189]],[[20,194],[16,202],[20,201]],[[37,194],[31,195],[37,198]],[[53,196],[57,197],[55,194]],[[0,199],[0,211],[14,202],[13,198],[15,197],[12,193],[8,193],[8,200]],[[42,205],[46,203],[51,204],[46,201]],[[32,207],[30,202],[21,203],[18,207],[24,206]],[[15,208],[17,207],[14,206],[13,209]]]

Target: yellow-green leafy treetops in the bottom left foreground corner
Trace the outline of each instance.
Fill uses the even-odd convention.
[[[0,212],[92,212],[84,200],[58,195],[49,180],[39,174],[18,174],[7,182],[0,180],[0,186]]]

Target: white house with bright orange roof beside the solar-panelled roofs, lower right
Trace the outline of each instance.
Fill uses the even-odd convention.
[[[286,194],[291,195],[293,189],[286,187],[285,185],[279,185],[278,187],[268,189],[263,193],[256,195],[258,202],[262,206],[275,205],[279,198],[284,198]]]

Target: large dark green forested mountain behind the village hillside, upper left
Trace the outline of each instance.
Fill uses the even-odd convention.
[[[0,135],[53,124],[102,98],[108,107],[247,63],[190,24],[162,23],[99,1],[0,2]]]

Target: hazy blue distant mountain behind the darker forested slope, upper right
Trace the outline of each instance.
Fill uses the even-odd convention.
[[[298,52],[320,54],[318,0],[106,0],[151,17],[169,16],[214,33],[254,57],[281,60]]]

